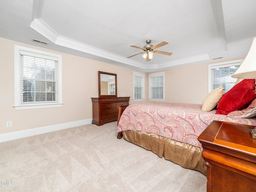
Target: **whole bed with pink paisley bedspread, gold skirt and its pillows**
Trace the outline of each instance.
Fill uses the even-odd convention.
[[[224,94],[218,87],[202,104],[152,102],[118,106],[122,137],[159,157],[206,175],[198,136],[214,120],[256,126],[255,79],[237,81]]]

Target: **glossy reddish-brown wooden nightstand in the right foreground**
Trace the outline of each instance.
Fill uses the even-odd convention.
[[[256,139],[250,136],[253,128],[213,121],[200,134],[207,192],[256,191]]]

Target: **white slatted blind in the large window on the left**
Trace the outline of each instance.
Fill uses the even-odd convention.
[[[21,104],[58,103],[58,60],[31,55],[20,51]]]

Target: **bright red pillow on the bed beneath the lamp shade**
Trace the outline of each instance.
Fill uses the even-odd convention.
[[[242,110],[255,98],[255,79],[244,79],[222,96],[216,114],[227,115],[232,111]]]

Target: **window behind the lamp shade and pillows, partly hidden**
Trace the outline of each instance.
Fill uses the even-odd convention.
[[[210,64],[208,66],[208,92],[223,87],[224,93],[228,92],[236,83],[236,78],[231,75],[236,72],[243,60],[234,60],[229,62],[222,62]]]

